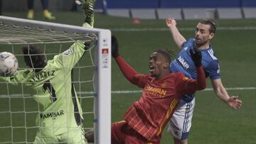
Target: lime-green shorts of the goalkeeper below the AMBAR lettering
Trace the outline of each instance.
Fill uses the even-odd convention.
[[[87,144],[85,139],[85,131],[82,126],[79,126],[74,131],[69,131],[68,133],[63,133],[60,135],[53,136],[40,136],[36,135],[34,144],[43,143],[74,143],[74,144]]]

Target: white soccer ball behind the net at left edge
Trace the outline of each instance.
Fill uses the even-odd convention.
[[[12,76],[18,69],[18,60],[10,52],[0,52],[0,76]]]

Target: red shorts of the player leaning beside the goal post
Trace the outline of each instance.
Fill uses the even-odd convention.
[[[144,138],[141,134],[130,127],[125,121],[112,123],[111,126],[111,144],[159,144],[159,142],[151,142]]]

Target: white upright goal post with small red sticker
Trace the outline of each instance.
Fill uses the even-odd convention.
[[[96,77],[96,142],[111,142],[111,34],[98,35],[99,48],[95,49]]]

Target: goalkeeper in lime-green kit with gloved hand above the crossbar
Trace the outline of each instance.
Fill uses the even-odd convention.
[[[94,0],[81,3],[86,12],[83,26],[87,28],[93,27],[93,4]],[[36,118],[39,130],[34,143],[87,143],[71,71],[90,46],[90,42],[78,40],[48,61],[36,46],[23,46],[24,60],[30,68],[18,70],[12,77],[1,77],[11,84],[22,83],[29,87],[34,99],[43,106]]]

